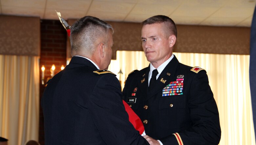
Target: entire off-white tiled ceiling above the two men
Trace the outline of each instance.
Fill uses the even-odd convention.
[[[58,20],[57,10],[64,19],[93,15],[139,23],[160,14],[177,24],[248,27],[255,4],[256,0],[0,0],[0,12]]]

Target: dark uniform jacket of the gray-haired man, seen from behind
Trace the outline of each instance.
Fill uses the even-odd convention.
[[[129,122],[116,76],[94,71],[93,63],[75,56],[51,79],[41,100],[45,144],[148,144]]]

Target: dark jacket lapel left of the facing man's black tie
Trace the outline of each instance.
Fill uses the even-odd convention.
[[[150,68],[148,67],[145,71],[145,73],[143,73],[141,75],[141,77],[139,77],[138,79],[138,84],[139,84],[139,88],[140,91],[142,92],[142,94],[146,97],[147,96],[147,92],[148,92],[148,73],[149,73]]]

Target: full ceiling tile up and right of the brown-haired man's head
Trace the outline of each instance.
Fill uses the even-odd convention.
[[[187,7],[181,6],[176,9],[173,16],[193,16],[193,17],[207,17],[217,11],[217,7]]]

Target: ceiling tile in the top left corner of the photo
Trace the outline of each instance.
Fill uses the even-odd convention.
[[[1,0],[2,6],[44,8],[46,0]]]

